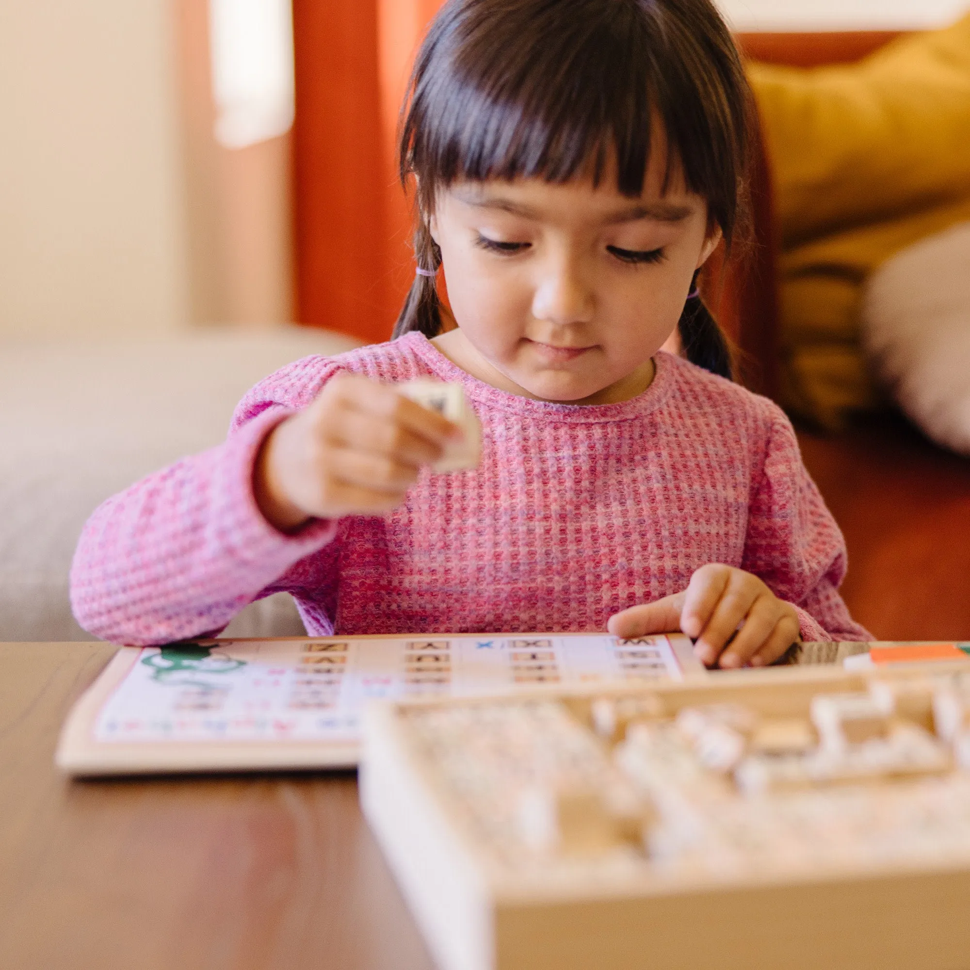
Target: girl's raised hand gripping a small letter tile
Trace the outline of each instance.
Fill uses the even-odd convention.
[[[422,465],[462,430],[390,384],[338,374],[317,399],[266,437],[253,493],[280,532],[308,519],[380,515],[404,501]]]

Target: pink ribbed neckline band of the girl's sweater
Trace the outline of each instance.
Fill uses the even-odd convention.
[[[523,416],[544,417],[547,420],[590,424],[641,417],[663,404],[673,381],[673,359],[670,354],[661,350],[654,355],[655,373],[650,386],[629,401],[621,401],[617,404],[554,404],[548,401],[533,401],[532,398],[502,391],[463,371],[419,331],[411,331],[399,340],[406,343],[436,377],[444,381],[460,383],[469,401]]]

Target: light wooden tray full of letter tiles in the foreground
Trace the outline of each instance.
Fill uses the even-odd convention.
[[[970,965],[970,720],[944,742],[932,719],[941,696],[970,698],[968,667],[384,703],[366,719],[361,801],[445,970],[956,970]],[[885,721],[866,721],[877,695]],[[730,753],[718,719],[738,711],[745,752],[711,768]],[[688,740],[696,724],[707,733]],[[811,747],[792,754],[806,725]],[[811,782],[778,782],[786,758]]]

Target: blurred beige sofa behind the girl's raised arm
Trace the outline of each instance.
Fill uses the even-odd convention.
[[[87,640],[68,601],[81,527],[113,492],[225,436],[261,377],[356,341],[277,327],[164,340],[0,343],[0,640]],[[235,635],[303,632],[292,599],[254,603]]]

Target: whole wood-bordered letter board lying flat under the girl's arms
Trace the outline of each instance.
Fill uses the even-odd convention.
[[[435,634],[122,647],[81,696],[57,764],[77,775],[352,767],[373,698],[501,695],[703,675],[679,634]]]

